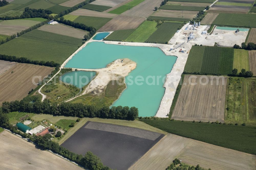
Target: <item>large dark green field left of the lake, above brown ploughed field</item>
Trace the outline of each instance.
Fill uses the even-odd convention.
[[[0,45],[0,51],[5,55],[62,64],[81,45],[81,39],[36,29]]]

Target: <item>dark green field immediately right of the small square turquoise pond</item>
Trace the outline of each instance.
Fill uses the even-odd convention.
[[[104,40],[106,41],[125,41],[129,35],[131,35],[136,29],[128,29],[128,30],[117,30],[112,32],[108,37]]]

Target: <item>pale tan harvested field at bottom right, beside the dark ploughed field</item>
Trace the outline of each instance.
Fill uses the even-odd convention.
[[[132,169],[165,169],[178,158],[184,163],[212,170],[255,169],[255,155],[168,134],[135,162]]]

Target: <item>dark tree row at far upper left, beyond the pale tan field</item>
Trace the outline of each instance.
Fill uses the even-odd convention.
[[[52,14],[52,11],[46,9],[31,9],[29,7],[25,8],[25,11],[20,16],[3,16],[0,17],[2,20],[9,20],[9,19],[22,19],[22,18],[46,18],[49,19],[49,14]]]

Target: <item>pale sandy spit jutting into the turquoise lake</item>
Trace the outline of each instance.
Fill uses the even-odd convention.
[[[119,80],[120,78],[124,78],[136,68],[136,63],[128,58],[117,59],[114,62],[108,64],[105,68],[100,69],[82,69],[82,68],[72,68],[72,70],[81,70],[81,71],[96,71],[97,75],[88,86],[84,89],[81,95],[88,93],[101,93],[108,83],[113,80]],[[67,100],[71,101],[81,95],[78,95],[72,99]]]

